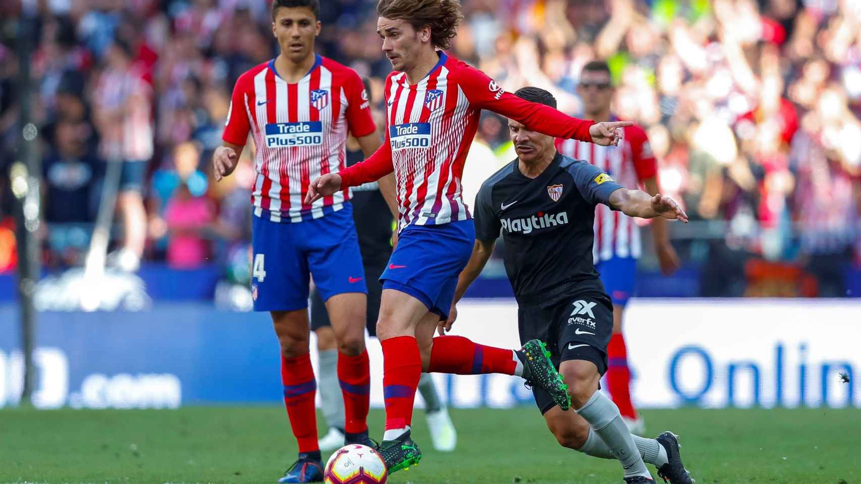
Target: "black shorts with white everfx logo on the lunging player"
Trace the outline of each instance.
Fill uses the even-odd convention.
[[[598,366],[602,376],[607,371],[613,303],[604,292],[578,291],[548,303],[522,305],[517,309],[517,327],[521,344],[536,339],[547,343],[557,369],[563,361],[582,359]],[[544,389],[533,387],[532,393],[542,414],[554,407]]]

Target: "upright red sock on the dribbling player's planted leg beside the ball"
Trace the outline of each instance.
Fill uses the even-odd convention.
[[[382,389],[386,401],[386,430],[412,424],[412,403],[418,378],[422,376],[422,357],[412,336],[382,340]]]

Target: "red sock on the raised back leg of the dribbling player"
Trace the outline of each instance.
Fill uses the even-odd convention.
[[[484,346],[463,336],[437,336],[433,339],[431,367],[428,372],[455,375],[504,373],[514,375],[517,358],[511,350]]]

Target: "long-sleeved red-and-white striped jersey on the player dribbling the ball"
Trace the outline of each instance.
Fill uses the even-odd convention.
[[[342,187],[354,187],[394,172],[400,228],[471,218],[461,199],[461,175],[482,109],[550,136],[592,139],[592,121],[525,101],[484,72],[438,53],[439,63],[416,84],[409,83],[405,72],[389,74],[386,142],[339,174]]]

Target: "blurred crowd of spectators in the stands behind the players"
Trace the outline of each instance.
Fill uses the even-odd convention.
[[[731,271],[759,277],[762,267],[746,263],[759,260],[802,267],[787,277],[812,275],[815,291],[841,295],[840,274],[861,265],[861,2],[462,2],[452,53],[505,89],[548,89],[577,115],[580,68],[608,61],[614,111],[646,129],[663,192],[693,221],[674,225],[673,237],[710,271],[715,291]],[[209,159],[233,83],[276,55],[269,2],[34,3],[46,263],[80,263],[113,161],[122,162],[122,223],[112,263],[240,264],[254,168],[245,154],[216,184]],[[379,108],[391,65],[375,33],[375,2],[321,4],[318,51],[367,77]],[[5,5],[3,18],[15,18],[15,2]],[[11,43],[0,45],[3,164],[20,132],[17,71]],[[505,119],[485,113],[464,176],[468,203],[512,153]],[[8,181],[0,180],[0,197],[2,271],[14,225]]]

